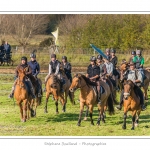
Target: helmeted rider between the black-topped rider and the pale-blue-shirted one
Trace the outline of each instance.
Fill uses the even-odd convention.
[[[100,78],[104,78],[107,73],[107,70],[102,55],[97,56],[97,66],[99,66],[100,68]]]

